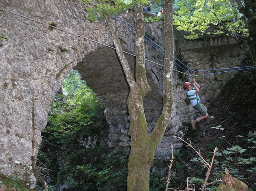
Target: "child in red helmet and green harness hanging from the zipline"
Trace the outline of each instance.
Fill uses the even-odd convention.
[[[192,87],[192,84],[194,88]],[[193,108],[195,110],[198,110],[198,112],[202,115],[198,117],[196,120],[191,120],[192,128],[195,130],[196,123],[199,123],[201,120],[204,119],[206,119],[207,121],[213,120],[214,116],[209,116],[207,113],[206,106],[204,106],[204,104],[201,103],[200,97],[198,96],[198,93],[200,92],[200,85],[198,85],[194,77],[192,77],[192,84],[190,82],[185,82],[184,89],[187,91],[186,95],[190,100],[190,103],[192,104]]]

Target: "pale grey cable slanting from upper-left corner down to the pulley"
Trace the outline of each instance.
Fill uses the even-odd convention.
[[[46,25],[46,26],[49,26],[49,27],[51,27],[51,28],[55,28],[55,29],[60,30],[60,31],[62,31],[62,32],[66,32],[66,33],[69,33],[69,34],[72,34],[72,35],[75,35],[75,36],[84,38],[84,39],[86,39],[86,40],[93,41],[93,42],[95,42],[95,43],[104,45],[104,46],[106,46],[106,47],[109,47],[109,48],[112,48],[112,49],[116,49],[115,47],[106,45],[106,44],[104,44],[104,43],[100,43],[100,42],[98,42],[98,41],[96,41],[96,40],[89,39],[89,38],[84,37],[84,36],[82,36],[82,35],[79,35],[79,34],[76,34],[76,33],[73,33],[73,32],[70,32],[70,31],[67,31],[67,30],[64,30],[64,29],[55,27],[55,26],[52,26],[52,25],[50,25],[50,24],[46,24],[46,23],[44,23],[44,22],[41,22],[41,21],[39,21],[39,20],[35,20],[35,19],[30,18],[30,17],[27,17],[27,16],[24,16],[24,15],[18,14],[18,13],[16,13],[16,12],[12,12],[12,11],[9,11],[9,10],[3,9],[3,8],[0,8],[0,10],[5,11],[5,12],[7,12],[7,13],[14,14],[14,15],[16,15],[16,16],[20,16],[20,17],[22,17],[22,18],[26,18],[26,19],[28,19],[28,20],[32,20],[32,21],[34,21],[34,22],[37,22],[37,23],[40,23],[40,24],[43,24],[43,25]],[[128,52],[126,52],[126,51],[123,51],[123,52],[126,53],[126,54],[128,54],[128,55],[132,55],[132,56],[136,57],[136,55],[134,55],[134,54],[132,54],[132,53],[128,53]],[[154,63],[154,64],[156,64],[156,65],[164,66],[164,65],[161,65],[161,64],[159,64],[159,63],[156,63],[156,62],[151,61],[151,60],[148,60],[148,59],[145,59],[145,60],[148,61],[148,62]],[[173,69],[173,70],[174,70],[174,71],[177,71],[177,72],[180,72],[180,73],[182,73],[182,74],[185,74],[185,73],[183,73],[183,72],[181,72],[181,71],[178,71],[178,70],[175,70],[175,69]],[[188,74],[185,74],[185,75],[188,75]]]

